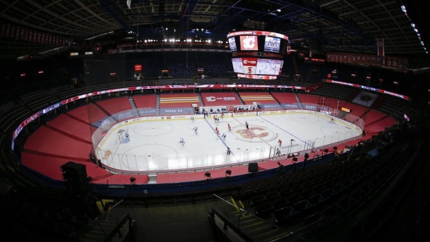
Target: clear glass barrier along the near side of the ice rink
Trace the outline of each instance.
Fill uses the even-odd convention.
[[[336,132],[334,135],[326,135],[316,139],[305,141],[289,141],[282,146],[253,147],[248,150],[232,150],[230,155],[223,153],[209,153],[200,155],[148,155],[133,153],[115,153],[112,150],[98,150],[98,157],[106,168],[124,172],[146,171],[174,171],[184,169],[198,169],[203,167],[231,166],[247,162],[277,159],[284,155],[302,155],[311,150],[323,149],[336,144],[356,139],[361,133],[359,130]],[[250,145],[250,147],[252,147]],[[279,149],[279,150],[278,150]],[[196,152],[196,151],[191,151]],[[198,151],[197,151],[198,152]],[[108,155],[106,155],[108,154]]]

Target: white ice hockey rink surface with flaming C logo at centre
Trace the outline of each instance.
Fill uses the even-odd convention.
[[[226,114],[223,118],[218,114],[217,117],[219,122],[213,116],[204,119],[203,115],[196,115],[194,121],[191,116],[180,116],[123,123],[105,135],[96,148],[96,156],[105,166],[120,171],[195,170],[268,159],[277,155],[277,148],[285,155],[361,135],[361,129],[351,123],[339,120],[333,123],[329,116],[318,113]]]

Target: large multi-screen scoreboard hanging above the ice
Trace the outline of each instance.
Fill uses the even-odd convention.
[[[238,31],[227,35],[233,70],[241,78],[275,80],[282,73],[288,37],[268,31]]]

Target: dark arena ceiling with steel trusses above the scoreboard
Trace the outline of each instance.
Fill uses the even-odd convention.
[[[131,0],[130,9],[127,0],[0,0],[0,18],[74,40],[119,30],[139,32],[140,38],[225,40],[233,30],[259,29],[287,35],[293,48],[376,54],[381,38],[386,56],[425,57],[430,37],[424,7],[418,0],[407,3],[405,14],[400,0]],[[4,37],[0,42],[2,54],[52,47]]]

